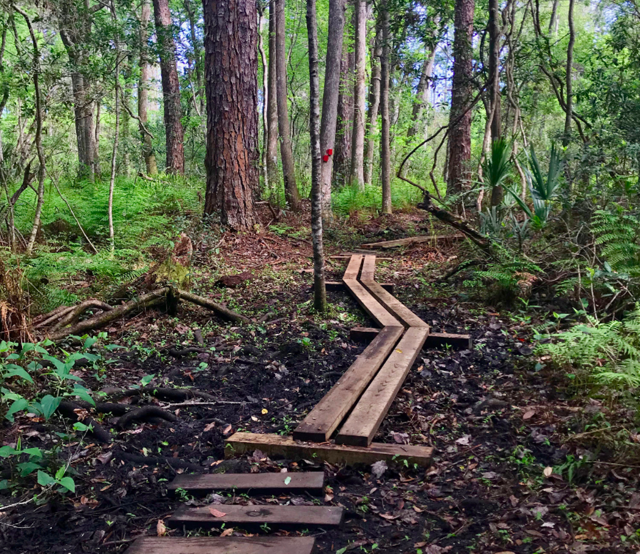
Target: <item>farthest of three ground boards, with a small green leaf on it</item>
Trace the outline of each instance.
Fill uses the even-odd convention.
[[[287,481],[288,480],[288,481]],[[191,493],[208,494],[212,491],[321,491],[323,471],[301,473],[182,473],[173,479],[167,490],[184,489]]]

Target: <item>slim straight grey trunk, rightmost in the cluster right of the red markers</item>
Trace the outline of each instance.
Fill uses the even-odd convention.
[[[391,145],[389,121],[389,8],[388,0],[380,2],[382,17],[382,56],[380,58],[380,108],[382,135],[380,137],[380,165],[382,171],[382,213],[391,213]]]

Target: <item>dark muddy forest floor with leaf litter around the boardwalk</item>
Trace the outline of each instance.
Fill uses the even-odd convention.
[[[408,230],[432,231],[420,213],[369,219],[348,232],[328,231],[326,254],[402,238]],[[311,313],[305,225],[289,222],[260,234],[224,234],[195,247],[194,290],[252,318],[252,325],[223,323],[193,306],[180,307],[175,318],[147,311],[108,329],[109,341],[124,348],[110,354],[102,375],[74,371],[93,390],[128,388],[153,375],[152,385],[194,387],[222,403],[178,408],[177,421],[136,425],[107,445],[90,437],[61,442],[61,455],[71,456],[77,472],[76,494],[0,512],[0,552],[122,553],[136,537],[156,534],[159,520],[170,529],[170,514],[182,502],[249,501],[217,494],[207,500],[168,496],[166,485],[176,473],[194,468],[324,469],[330,488],[323,498],[252,495],[251,500],[345,507],[339,529],[304,530],[316,537],[319,553],[640,551],[638,467],[607,450],[602,439],[607,422],[618,425],[625,415],[575,395],[564,375],[540,365],[536,370],[540,360],[530,318],[473,300],[460,284],[439,282],[456,263],[461,245],[385,251],[380,256],[391,259],[380,260],[376,268],[376,280],[396,283],[394,295],[433,331],[468,333],[474,340],[472,350],[424,350],[376,436],[380,442],[434,446],[431,468],[390,464],[376,478],[370,467],[272,460],[260,452],[221,461],[225,438],[237,430],[289,434],[362,352],[364,346],[349,341],[349,329],[372,324],[342,292],[329,293],[328,318]],[[328,279],[339,280],[345,263],[330,259]],[[236,288],[216,286],[221,275],[241,272],[254,277]],[[204,348],[180,355],[176,348],[200,347],[196,329],[202,331]],[[113,423],[104,426],[115,428]],[[20,417],[4,426],[3,441],[10,444],[22,434],[29,446],[46,446],[63,428],[61,421]],[[588,452],[597,453],[596,462],[584,461]],[[131,461],[132,455],[190,465]],[[0,498],[5,505],[11,500]],[[238,534],[264,531],[234,529]],[[221,529],[202,532],[218,535]]]

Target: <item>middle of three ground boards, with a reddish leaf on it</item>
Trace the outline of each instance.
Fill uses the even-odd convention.
[[[281,506],[279,504],[241,506],[211,504],[187,506],[182,504],[165,523],[170,525],[283,525],[308,526],[340,525],[343,508],[338,506]]]

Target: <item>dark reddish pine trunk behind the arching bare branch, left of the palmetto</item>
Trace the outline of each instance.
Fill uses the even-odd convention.
[[[472,94],[472,38],[474,34],[474,0],[456,0],[453,40],[453,83],[449,115],[449,171],[447,195],[459,196],[470,179]],[[463,213],[463,202],[456,202]]]

